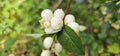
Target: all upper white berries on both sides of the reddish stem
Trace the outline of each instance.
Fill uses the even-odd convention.
[[[85,26],[79,25],[75,22],[75,17],[72,14],[65,16],[65,13],[62,9],[56,9],[54,13],[50,9],[45,9],[41,12],[42,19],[40,20],[41,26],[43,26],[46,34],[53,34],[62,30],[63,24],[68,25],[76,33],[79,31],[84,31]]]

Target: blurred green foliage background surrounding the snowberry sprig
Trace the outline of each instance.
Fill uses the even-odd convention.
[[[42,39],[26,34],[41,34],[41,11],[65,11],[68,1],[0,0],[0,56],[40,56]],[[73,0],[69,13],[87,27],[81,37],[91,56],[120,56],[120,1]],[[70,56],[67,51],[64,54]]]

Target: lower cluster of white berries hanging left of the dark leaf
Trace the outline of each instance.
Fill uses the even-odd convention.
[[[43,50],[41,56],[51,56],[51,52],[54,52],[57,56],[62,51],[62,46],[60,43],[54,43],[52,37],[46,37],[43,42],[46,50]]]

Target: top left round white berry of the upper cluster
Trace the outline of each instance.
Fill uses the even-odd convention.
[[[45,9],[41,12],[41,17],[46,21],[50,21],[51,18],[53,17],[53,13],[50,9]]]

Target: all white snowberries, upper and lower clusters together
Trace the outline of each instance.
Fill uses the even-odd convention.
[[[79,25],[75,22],[75,17],[72,14],[68,14],[63,19],[65,13],[62,9],[56,9],[54,13],[50,9],[45,9],[41,12],[42,19],[40,20],[41,27],[44,28],[46,34],[53,34],[62,30],[63,24],[69,26],[77,34],[79,31],[84,31],[85,26]],[[46,37],[44,39],[44,47],[46,50],[43,50],[41,56],[51,56],[53,51],[57,56],[62,50],[60,43],[54,43],[52,37]]]

